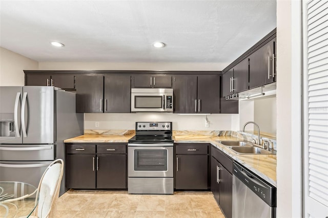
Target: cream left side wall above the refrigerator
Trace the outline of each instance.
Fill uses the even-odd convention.
[[[0,47],[0,86],[24,85],[23,70],[38,70],[38,62]]]

